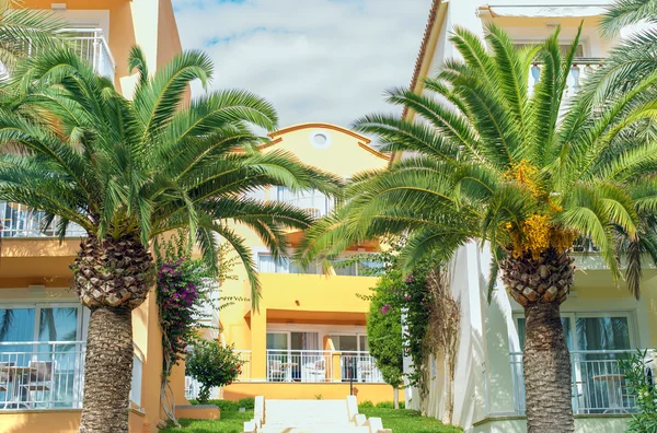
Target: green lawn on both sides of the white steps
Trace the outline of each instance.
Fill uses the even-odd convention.
[[[379,417],[385,429],[393,433],[460,433],[461,430],[447,426],[433,418],[423,418],[413,410],[394,410],[382,408],[361,408],[360,413]],[[253,418],[253,411],[244,413],[235,411],[221,412],[220,421],[181,420],[183,429],[166,429],[164,433],[242,433],[244,421]]]

